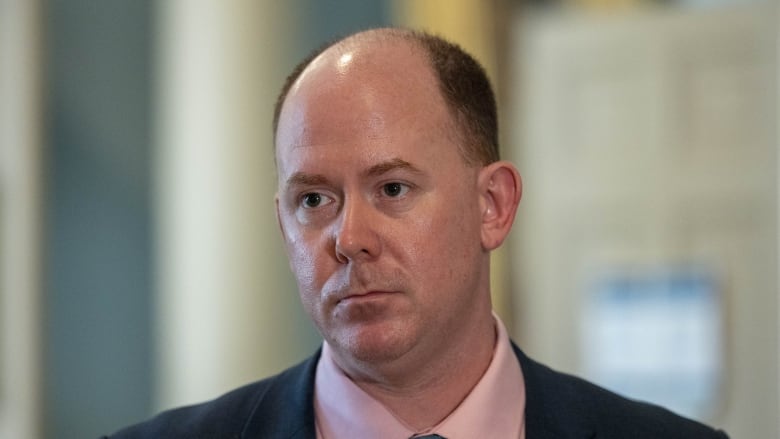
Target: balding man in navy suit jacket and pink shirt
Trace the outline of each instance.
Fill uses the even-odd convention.
[[[493,93],[457,46],[361,32],[290,76],[276,210],[322,349],[282,374],[116,437],[716,438],[526,357],[490,303],[520,176]]]

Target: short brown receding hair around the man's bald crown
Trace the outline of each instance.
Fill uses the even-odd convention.
[[[457,44],[427,32],[405,28],[383,28],[359,32],[331,41],[310,53],[287,77],[274,108],[274,140],[282,106],[295,81],[320,54],[362,34],[402,38],[423,50],[435,73],[439,90],[461,137],[461,154],[466,163],[487,165],[499,160],[498,116],[490,80],[482,66]]]

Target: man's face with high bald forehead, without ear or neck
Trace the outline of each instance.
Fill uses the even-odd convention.
[[[458,152],[432,75],[407,46],[331,49],[281,113],[279,222],[337,361],[435,353],[489,295],[479,169]]]

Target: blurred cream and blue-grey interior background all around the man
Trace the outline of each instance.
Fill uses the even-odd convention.
[[[272,106],[324,41],[476,55],[524,177],[494,301],[533,357],[780,437],[769,0],[0,0],[0,438],[84,438],[308,356]]]

